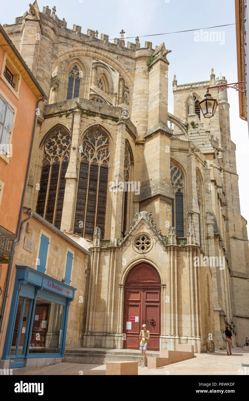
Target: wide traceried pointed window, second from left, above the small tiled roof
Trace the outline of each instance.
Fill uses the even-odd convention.
[[[80,147],[80,169],[74,233],[92,238],[94,227],[105,229],[109,140],[100,128],[92,128]]]

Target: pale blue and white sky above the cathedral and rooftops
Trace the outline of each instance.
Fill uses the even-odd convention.
[[[65,18],[67,28],[73,24],[82,26],[82,32],[87,29],[98,30],[108,34],[109,40],[120,38],[124,29],[125,38],[135,43],[139,36],[141,47],[145,41],[152,42],[152,47],[165,43],[166,49],[172,53],[167,55],[169,61],[169,93],[168,110],[173,114],[173,75],[177,83],[191,83],[210,79],[211,68],[216,77],[221,73],[228,83],[238,81],[237,53],[235,34],[235,1],[215,0],[54,0],[46,3],[38,1],[40,11],[44,6],[52,9],[56,6],[56,15],[61,20]],[[1,4],[1,24],[14,24],[17,16],[22,16],[29,10],[29,1],[10,0]],[[217,25],[233,24],[220,28],[205,29]],[[219,31],[217,41],[196,41],[195,31],[165,34],[189,29]],[[161,34],[152,36],[155,34]],[[142,37],[143,35],[148,35]],[[126,42],[125,41],[125,45]],[[210,91],[211,93],[211,91]],[[237,173],[239,174],[239,193],[241,214],[249,223],[248,208],[248,174],[249,137],[247,122],[239,118],[238,93],[228,89],[230,103],[231,140],[236,144]],[[249,231],[249,228],[248,228]]]

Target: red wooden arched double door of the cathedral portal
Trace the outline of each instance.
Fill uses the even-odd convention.
[[[159,350],[161,279],[153,266],[148,263],[139,263],[129,271],[125,279],[123,333],[126,334],[126,340],[124,348],[139,348],[139,334],[144,323],[150,333],[147,349]]]

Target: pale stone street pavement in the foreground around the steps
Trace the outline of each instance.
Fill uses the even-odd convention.
[[[192,359],[173,363],[162,368],[147,369],[138,367],[138,375],[245,375],[249,374],[249,352],[243,348],[233,348],[233,354],[226,351],[211,354],[195,354]],[[105,375],[106,365],[79,363],[58,363],[34,369],[21,375]],[[20,376],[21,376],[20,375]]]

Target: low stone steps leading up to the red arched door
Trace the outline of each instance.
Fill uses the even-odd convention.
[[[146,351],[147,356],[159,356],[159,351]],[[107,349],[107,348],[76,348],[65,350],[62,362],[68,363],[90,363],[94,365],[106,365],[106,362],[116,360],[129,360],[143,363],[140,350]]]

